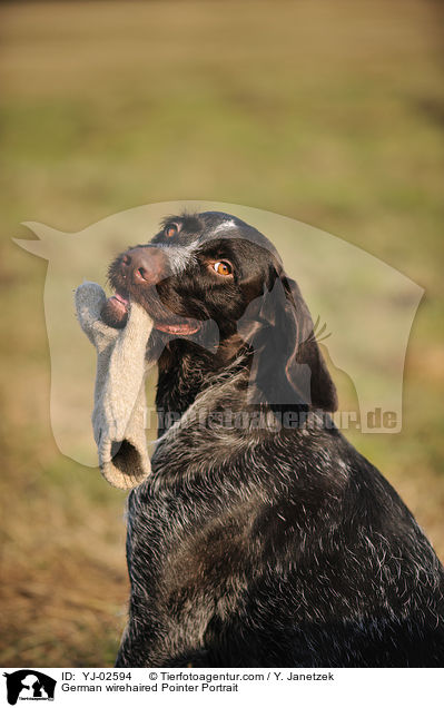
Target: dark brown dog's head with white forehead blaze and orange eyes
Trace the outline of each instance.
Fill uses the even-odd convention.
[[[251,391],[265,401],[336,409],[299,288],[273,244],[245,222],[215,212],[167,218],[149,244],[114,260],[109,281],[116,291],[102,311],[109,325],[125,326],[134,299],[166,341],[193,337],[210,348],[206,333],[216,323],[219,352],[254,352]]]

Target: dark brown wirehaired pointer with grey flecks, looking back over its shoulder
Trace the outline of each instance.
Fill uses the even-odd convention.
[[[109,282],[103,321],[141,304],[159,370],[116,666],[442,666],[443,567],[333,424],[335,385],[272,243],[228,214],[182,214]]]

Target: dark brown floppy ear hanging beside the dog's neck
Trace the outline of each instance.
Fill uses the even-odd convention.
[[[274,406],[335,411],[336,389],[297,284],[276,273],[255,319],[248,337],[255,352],[250,402],[256,391]]]

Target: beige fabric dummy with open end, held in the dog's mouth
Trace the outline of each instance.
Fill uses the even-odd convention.
[[[97,283],[83,283],[76,291],[77,317],[97,350],[92,429],[100,470],[112,486],[129,490],[151,471],[145,432],[145,377],[151,365],[146,348],[152,319],[131,302],[125,327],[110,327],[100,317],[106,301]]]

